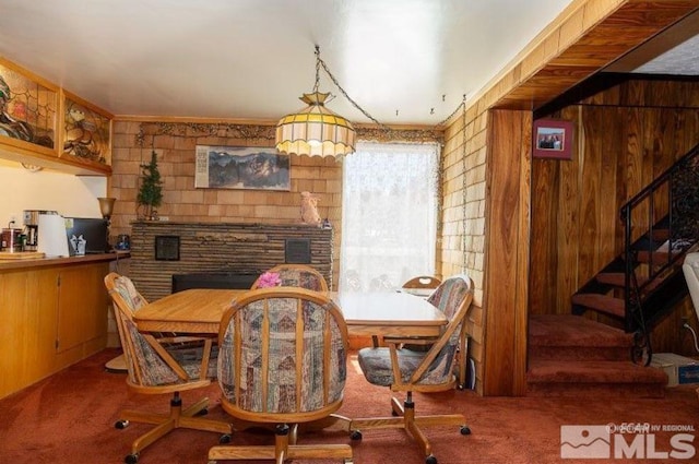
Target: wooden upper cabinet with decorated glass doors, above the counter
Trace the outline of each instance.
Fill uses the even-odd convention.
[[[0,57],[0,158],[32,168],[108,176],[111,118]]]

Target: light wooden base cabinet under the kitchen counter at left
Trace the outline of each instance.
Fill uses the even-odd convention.
[[[0,270],[0,397],[103,349],[109,262]]]

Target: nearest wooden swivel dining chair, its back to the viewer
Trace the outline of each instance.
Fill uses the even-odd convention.
[[[299,425],[328,419],[342,405],[347,328],[325,295],[299,287],[259,288],[237,298],[218,335],[221,405],[241,421],[274,427],[274,444],[216,445],[216,460],[337,459],[350,444],[297,444]],[[247,427],[246,427],[247,428]]]

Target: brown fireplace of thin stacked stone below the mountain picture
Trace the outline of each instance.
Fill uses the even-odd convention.
[[[135,222],[129,275],[149,301],[169,295],[174,281],[178,289],[245,288],[287,262],[316,267],[332,286],[332,229],[304,224]]]

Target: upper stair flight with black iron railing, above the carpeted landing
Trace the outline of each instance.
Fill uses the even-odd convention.
[[[699,145],[620,211],[624,251],[571,297],[572,313],[595,311],[632,333],[635,362],[652,360],[650,333],[687,295],[685,254],[699,238]]]

